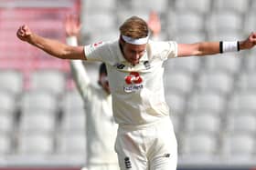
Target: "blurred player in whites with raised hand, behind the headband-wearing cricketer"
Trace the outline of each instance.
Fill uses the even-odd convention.
[[[78,18],[68,15],[65,22],[67,44],[77,46],[80,32]],[[86,140],[88,170],[118,170],[118,159],[114,152],[117,124],[112,118],[112,95],[110,94],[106,65],[99,68],[100,85],[91,83],[81,60],[70,60],[71,73],[86,105]],[[83,167],[82,170],[85,170]]]

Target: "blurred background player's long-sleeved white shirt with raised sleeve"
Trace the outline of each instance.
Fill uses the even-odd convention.
[[[68,44],[76,45],[75,42],[68,41]],[[112,118],[112,96],[101,87],[91,84],[80,60],[70,60],[70,66],[86,106],[87,164],[117,165],[114,152],[117,125]]]

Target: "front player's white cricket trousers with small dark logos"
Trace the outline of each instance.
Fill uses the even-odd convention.
[[[140,128],[121,125],[115,150],[121,170],[176,170],[176,136],[168,117]]]

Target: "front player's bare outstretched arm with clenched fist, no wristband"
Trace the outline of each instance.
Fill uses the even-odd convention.
[[[49,55],[53,55],[61,59],[86,60],[86,56],[83,52],[83,46],[65,45],[57,40],[42,37],[33,33],[27,25],[20,26],[16,35],[20,40],[36,46]]]

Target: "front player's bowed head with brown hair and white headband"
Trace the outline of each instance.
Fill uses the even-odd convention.
[[[144,55],[149,28],[140,17],[132,16],[120,26],[120,44],[124,58],[132,65],[139,63]]]

